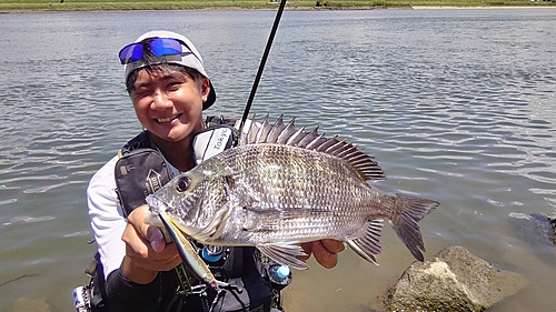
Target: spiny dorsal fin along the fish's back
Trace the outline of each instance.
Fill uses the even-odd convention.
[[[305,127],[296,130],[294,122],[295,119],[291,119],[288,124],[284,124],[284,117],[280,115],[271,124],[268,121],[268,114],[262,123],[250,120],[249,125],[246,127],[248,130],[244,130],[239,138],[239,145],[267,143],[315,150],[348,161],[365,180],[386,179],[374,157],[364,153],[356,145],[344,140],[339,141],[336,137],[326,138],[325,133],[318,133],[318,127],[311,131],[306,131]]]

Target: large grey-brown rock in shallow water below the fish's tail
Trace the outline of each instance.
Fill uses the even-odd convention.
[[[387,311],[485,311],[517,293],[527,280],[500,271],[463,246],[450,246],[433,259],[415,262],[385,298]]]

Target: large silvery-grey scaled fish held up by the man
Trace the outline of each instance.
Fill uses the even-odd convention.
[[[308,269],[301,243],[345,242],[377,264],[384,220],[419,261],[418,222],[435,200],[387,193],[369,182],[386,179],[375,158],[318,127],[296,129],[280,117],[250,120],[237,147],[178,174],[147,197],[151,218],[163,215],[186,236],[203,244],[256,246],[271,260]]]

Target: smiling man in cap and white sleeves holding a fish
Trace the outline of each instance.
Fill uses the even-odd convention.
[[[178,33],[145,33],[123,47],[119,57],[125,64],[127,90],[145,131],[106,163],[88,188],[89,214],[101,269],[96,282],[103,294],[102,304],[109,311],[119,312],[202,311],[209,301],[207,296],[177,294],[179,283],[172,270],[181,259],[176,245],[166,244],[160,230],[145,223],[148,207],[143,198],[156,189],[129,185],[137,182],[133,177],[139,175],[133,175],[135,172],[147,174],[151,169],[159,175],[167,172],[168,180],[196,165],[193,138],[207,127],[202,110],[214,104],[216,92],[201,56]],[[139,162],[133,163],[131,157],[139,157]],[[157,159],[162,159],[161,169],[155,169]],[[141,183],[145,184],[145,179]],[[337,241],[318,241],[304,248],[308,254],[312,251],[321,265],[332,268],[337,263],[336,253],[344,245]],[[271,293],[255,271],[257,259],[252,256],[252,248],[235,248],[230,253],[234,255],[226,262],[231,262],[228,268],[235,269],[222,269],[222,278],[240,279],[247,299],[237,299],[237,294],[227,298],[239,302],[239,310],[260,306],[268,310]],[[226,304],[220,305],[220,311],[235,311],[236,308],[230,306],[236,303]]]

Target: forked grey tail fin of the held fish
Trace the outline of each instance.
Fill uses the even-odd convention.
[[[423,256],[423,252],[425,251],[425,244],[423,243],[419,224],[417,224],[417,222],[440,203],[406,194],[398,194],[398,197],[401,199],[403,207],[400,214],[390,220],[391,225],[396,234],[398,234],[398,238],[404,242],[415,259],[424,261],[425,258]]]

